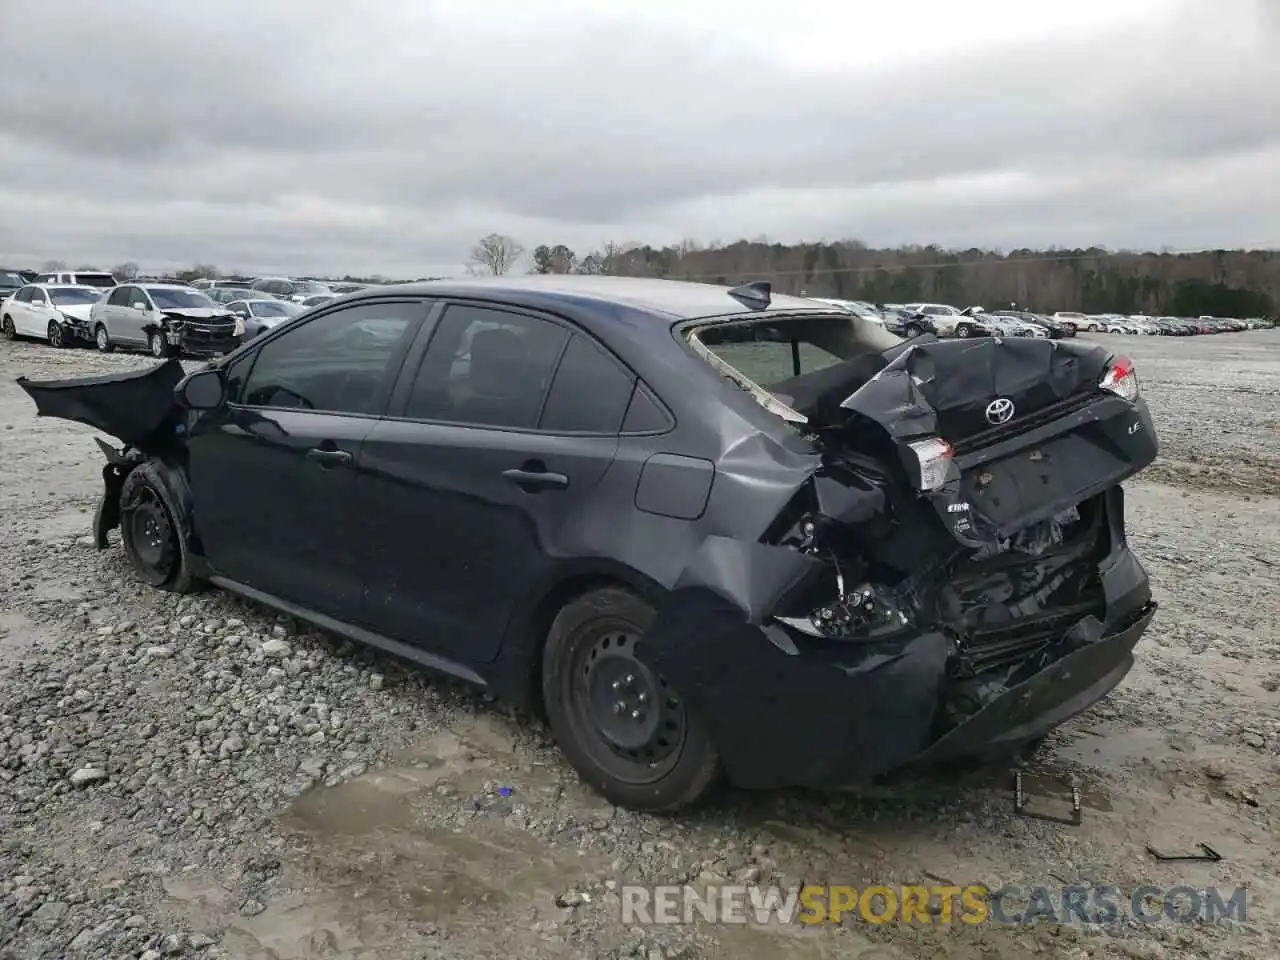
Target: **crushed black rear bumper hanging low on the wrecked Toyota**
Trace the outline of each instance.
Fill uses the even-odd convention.
[[[942,630],[814,640],[744,616],[722,593],[690,590],[659,612],[637,653],[684,691],[740,787],[855,786],[918,765],[1011,756],[1133,667],[1156,604],[1117,521],[1097,567],[1105,604],[1064,622],[1028,669],[950,728],[938,718],[957,646]]]

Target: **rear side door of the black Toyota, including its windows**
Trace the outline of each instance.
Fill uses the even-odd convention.
[[[484,663],[613,462],[635,375],[553,317],[451,303],[434,320],[361,453],[361,620]]]

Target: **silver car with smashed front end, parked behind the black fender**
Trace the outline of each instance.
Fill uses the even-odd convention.
[[[154,357],[229,353],[241,343],[243,321],[200,291],[175,283],[127,283],[90,311],[97,348],[145,348]]]

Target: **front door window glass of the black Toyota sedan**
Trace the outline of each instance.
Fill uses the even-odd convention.
[[[361,303],[317,316],[262,344],[243,387],[251,407],[376,413],[390,360],[422,303]]]

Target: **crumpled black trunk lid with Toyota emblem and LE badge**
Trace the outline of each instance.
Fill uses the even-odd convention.
[[[1158,452],[1139,397],[1102,390],[1111,355],[1088,343],[977,338],[902,344],[841,403],[846,429],[879,425],[902,457],[937,436],[954,456],[946,483],[927,492],[961,544],[1007,545],[1147,467]],[[855,444],[851,440],[851,444]]]

